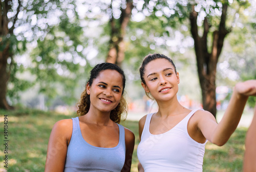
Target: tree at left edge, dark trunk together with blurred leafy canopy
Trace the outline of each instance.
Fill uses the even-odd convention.
[[[74,73],[86,64],[81,45],[81,40],[86,39],[82,36],[76,2],[13,0],[1,1],[0,5],[0,108],[13,108],[7,102],[7,93],[13,96],[36,83],[39,92],[50,96],[61,88],[62,85],[53,87],[58,82],[74,86]],[[29,66],[17,63],[25,52],[30,53]],[[24,70],[35,79],[18,79],[17,73]],[[8,84],[12,86],[7,92]]]

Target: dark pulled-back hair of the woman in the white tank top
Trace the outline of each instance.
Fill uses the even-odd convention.
[[[143,59],[143,62],[142,62],[142,64],[141,64],[141,66],[140,66],[140,79],[141,79],[141,82],[143,83],[143,84],[145,84],[146,85],[146,82],[145,82],[145,80],[144,80],[144,73],[145,73],[145,68],[146,68],[146,65],[148,64],[148,63],[150,63],[151,61],[153,61],[153,60],[156,60],[156,59],[166,59],[166,60],[168,60],[173,66],[174,66],[174,69],[175,69],[175,73],[176,73],[176,75],[177,75],[177,71],[176,71],[176,66],[175,66],[175,64],[174,64],[174,62],[173,62],[173,60],[172,59],[170,59],[170,58],[168,58],[167,56],[165,56],[165,55],[163,55],[163,54],[149,54],[149,55],[147,55],[144,59]],[[150,93],[147,93],[147,92],[145,92],[146,93],[146,96],[148,97],[148,98],[150,98],[150,99],[154,99],[152,96],[151,96],[151,94]]]

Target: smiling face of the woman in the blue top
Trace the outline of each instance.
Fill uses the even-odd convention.
[[[102,70],[90,86],[87,84],[87,93],[90,95],[90,108],[100,112],[111,112],[120,102],[123,81],[121,74],[116,70]]]

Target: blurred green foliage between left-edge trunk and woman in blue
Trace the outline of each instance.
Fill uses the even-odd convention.
[[[20,92],[32,86],[47,100],[62,96],[73,104],[79,80],[85,80],[91,69],[87,64],[88,39],[83,36],[81,16],[76,1],[8,1],[15,14],[10,18],[13,29],[9,63],[8,97],[12,104],[19,102]],[[16,18],[15,18],[16,17]],[[29,76],[29,77],[28,77]],[[50,104],[50,102],[48,102]]]

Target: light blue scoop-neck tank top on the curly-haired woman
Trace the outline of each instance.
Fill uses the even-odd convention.
[[[125,161],[125,136],[123,126],[119,127],[119,142],[114,148],[99,148],[83,139],[79,118],[72,118],[73,131],[68,146],[65,172],[116,171],[120,172]],[[111,137],[111,135],[109,136]]]

